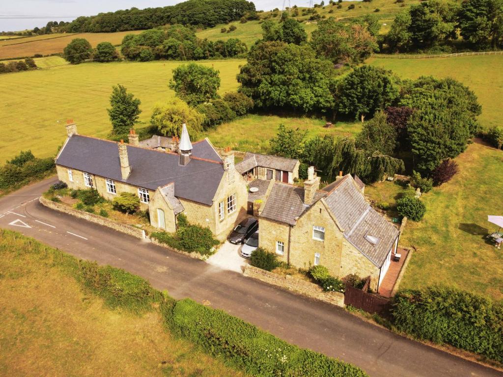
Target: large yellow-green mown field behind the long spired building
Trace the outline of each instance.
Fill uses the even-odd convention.
[[[220,70],[220,92],[237,88],[243,60],[201,62]],[[120,62],[64,65],[47,70],[5,74],[0,79],[2,160],[22,149],[37,156],[56,152],[65,137],[65,121],[73,119],[83,135],[105,137],[111,130],[107,107],[112,85],[125,85],[142,102],[139,126],[149,123],[155,102],[174,96],[167,87],[180,62]],[[3,162],[3,161],[2,161]]]

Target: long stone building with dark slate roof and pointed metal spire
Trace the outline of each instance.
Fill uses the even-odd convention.
[[[74,123],[66,130],[55,162],[58,178],[71,189],[94,188],[107,200],[132,193],[153,227],[174,232],[183,212],[221,241],[246,214],[246,182],[233,153],[220,157],[208,139],[191,143],[185,125],[173,139],[176,151],[141,147],[133,131],[125,144],[78,135]]]

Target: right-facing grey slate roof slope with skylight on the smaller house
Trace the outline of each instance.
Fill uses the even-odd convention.
[[[330,192],[324,198],[325,203],[344,229],[344,237],[381,267],[398,237],[398,230],[365,201],[351,175],[323,190],[327,188]],[[365,236],[377,237],[379,241],[374,245]]]

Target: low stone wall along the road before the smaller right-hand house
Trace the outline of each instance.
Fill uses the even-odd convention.
[[[323,292],[320,286],[291,275],[279,275],[248,264],[244,269],[244,276],[253,277],[272,286],[281,287],[299,295],[344,308],[344,294],[340,292]]]

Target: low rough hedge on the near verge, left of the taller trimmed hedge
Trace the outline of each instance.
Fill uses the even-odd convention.
[[[82,260],[79,278],[111,308],[121,307],[141,314],[160,299],[160,292],[154,290],[148,281],[123,269]]]

